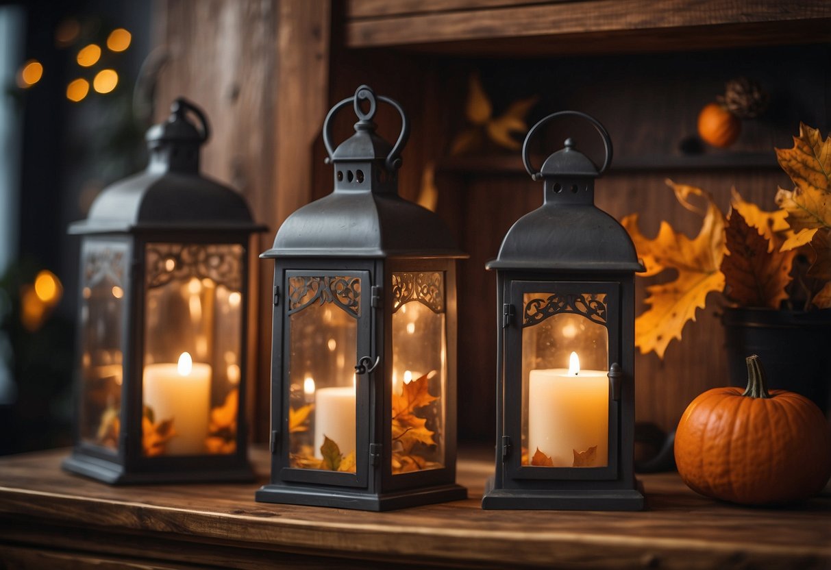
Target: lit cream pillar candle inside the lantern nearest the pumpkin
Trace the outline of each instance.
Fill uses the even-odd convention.
[[[573,354],[573,359],[576,355]],[[597,446],[589,465],[608,463],[609,381],[607,372],[550,368],[529,374],[528,449],[539,449],[554,467],[571,467],[574,451]]]

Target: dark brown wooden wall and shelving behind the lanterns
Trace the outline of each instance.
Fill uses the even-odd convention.
[[[647,235],[661,219],[690,235],[697,231],[700,220],[676,203],[666,178],[711,191],[725,211],[733,186],[745,199],[772,209],[777,185],[789,186],[773,147],[789,147],[800,120],[826,134],[831,130],[831,8],[824,2],[792,2],[787,10],[768,2],[531,6],[536,3],[541,2],[156,5],[156,43],[170,55],[160,76],[160,110],[178,95],[204,106],[215,133],[204,150],[204,170],[239,189],[258,221],[271,228],[258,251],[270,246],[273,232],[294,209],[331,191],[320,129],[333,103],[368,83],[404,106],[412,132],[401,194],[416,199],[425,165],[435,164],[437,212],[470,253],[459,273],[462,440],[484,442],[494,435],[488,419],[495,417],[495,276],[484,263],[497,253],[510,224],[542,201],[541,185],[524,173],[518,153],[449,156],[450,140],[465,126],[470,73],[482,77],[496,115],[511,101],[536,95],[530,121],[567,108],[601,120],[612,135],[615,161],[597,182],[597,204],[618,219],[640,213]],[[516,6],[504,7],[511,4]],[[539,23],[545,21],[540,14],[566,9],[568,18]],[[628,10],[627,16],[616,16],[620,10]],[[745,121],[729,150],[682,154],[681,140],[696,134],[698,111],[736,76],[749,76],[770,92],[770,111]],[[337,140],[353,122],[347,114],[341,117]],[[393,112],[381,109],[376,122],[386,138],[396,136]],[[578,123],[552,125],[538,150],[558,150],[567,135],[600,160],[599,141]],[[254,265],[259,288],[270,290],[271,267]],[[708,301],[698,322],[685,327],[683,342],[673,342],[662,361],[637,356],[637,420],[671,429],[693,397],[728,382],[720,299],[711,295]],[[251,347],[248,410],[255,439],[264,440],[268,295],[259,296],[253,317],[257,342]]]

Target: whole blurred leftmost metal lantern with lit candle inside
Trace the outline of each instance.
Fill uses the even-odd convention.
[[[199,174],[202,112],[184,99],[171,111],[147,132],[147,170],[69,229],[82,236],[78,420],[63,466],[106,483],[253,479],[243,378],[248,242],[262,228]]]

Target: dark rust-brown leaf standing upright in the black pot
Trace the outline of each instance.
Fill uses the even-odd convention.
[[[788,293],[796,252],[771,251],[770,241],[732,210],[725,230],[727,253],[721,262],[725,295],[743,307],[777,309]]]

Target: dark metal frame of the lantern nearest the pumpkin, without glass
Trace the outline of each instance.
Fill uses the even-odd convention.
[[[593,125],[606,150],[598,170],[568,139],[542,170],[529,160],[529,140],[548,121],[578,116]],[[606,129],[589,115],[559,111],[529,130],[523,161],[544,181],[543,205],[506,234],[487,264],[497,275],[496,470],[483,509],[640,510],[634,454],[634,274],[642,263],[626,230],[594,205],[594,179],[612,161]],[[524,293],[547,298],[524,303]],[[605,294],[588,302],[583,294]],[[594,297],[597,298],[597,297]],[[542,308],[541,308],[542,307]],[[608,455],[605,467],[534,466],[522,462],[523,329],[555,314],[582,314],[607,330]],[[531,450],[529,450],[529,453]]]

